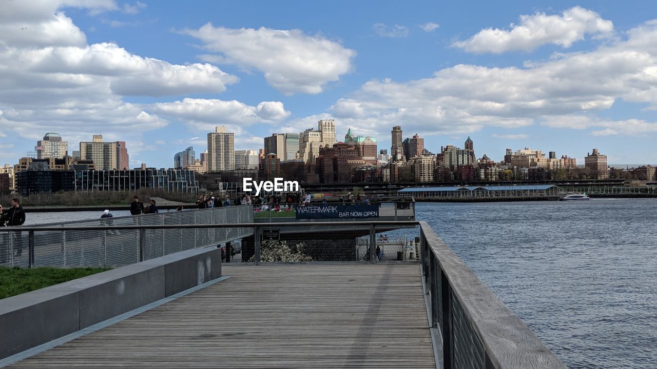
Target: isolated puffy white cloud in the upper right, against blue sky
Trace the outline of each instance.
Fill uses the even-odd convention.
[[[510,30],[486,28],[466,41],[453,46],[468,53],[505,53],[507,51],[532,51],[548,43],[570,47],[585,35],[608,35],[614,30],[610,20],[581,7],[574,7],[559,15],[536,13],[520,16],[520,24],[510,25]]]

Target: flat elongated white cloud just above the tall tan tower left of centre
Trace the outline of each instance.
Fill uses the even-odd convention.
[[[244,126],[254,123],[271,123],[290,116],[282,102],[264,101],[249,106],[237,100],[185,98],[175,102],[158,102],[152,111],[162,116],[181,119],[194,127],[214,129],[215,125]]]

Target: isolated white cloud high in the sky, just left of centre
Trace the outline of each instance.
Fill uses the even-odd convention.
[[[231,29],[208,23],[183,33],[200,39],[208,51],[221,53],[205,60],[260,70],[269,85],[286,95],[321,93],[328,82],[350,72],[356,54],[336,41],[301,30]]]

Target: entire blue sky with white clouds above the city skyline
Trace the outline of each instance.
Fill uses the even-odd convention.
[[[379,148],[401,125],[434,153],[654,165],[655,5],[632,4],[3,0],[0,165],[57,132],[170,167],[214,125],[258,149],[323,118]]]

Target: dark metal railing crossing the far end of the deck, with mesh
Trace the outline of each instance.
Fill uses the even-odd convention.
[[[419,227],[415,221],[231,223],[239,221],[240,217],[248,218],[251,208],[221,209],[166,213],[167,216],[158,217],[157,221],[145,221],[143,216],[112,219],[122,220],[126,225],[76,226],[69,223],[0,228],[0,265],[28,268],[118,266],[191,248],[224,244],[225,261],[232,259],[256,265],[294,261],[419,260]],[[227,219],[231,211],[234,217]],[[177,224],[185,219],[194,219],[197,224]],[[210,219],[217,223],[210,223]],[[275,238],[272,237],[274,233]],[[237,240],[240,242],[235,242]],[[240,254],[237,258],[233,253],[236,249]]]

